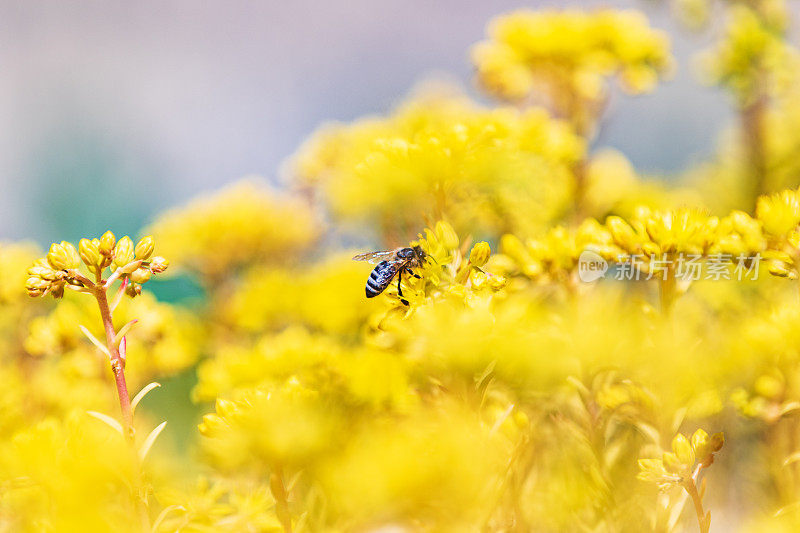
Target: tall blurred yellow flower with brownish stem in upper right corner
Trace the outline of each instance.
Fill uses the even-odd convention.
[[[752,210],[758,196],[798,185],[800,50],[789,38],[785,0],[727,4],[723,22],[714,25],[721,35],[698,64],[704,81],[732,94],[738,120],[722,136],[714,160],[690,169],[686,178],[710,207]]]

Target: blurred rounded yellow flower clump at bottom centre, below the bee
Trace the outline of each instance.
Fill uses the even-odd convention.
[[[487,428],[457,409],[378,421],[321,468],[335,512],[356,524],[419,523],[437,531],[477,527],[491,512],[503,469]]]

